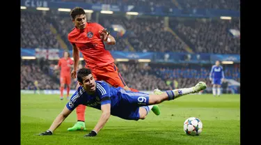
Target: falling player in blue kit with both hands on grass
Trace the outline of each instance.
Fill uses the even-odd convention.
[[[198,93],[207,88],[205,82],[199,82],[191,88],[160,92],[157,93],[158,95],[125,91],[121,87],[114,88],[105,82],[95,81],[88,68],[78,70],[77,80],[80,84],[77,91],[72,95],[63,111],[56,116],[50,128],[39,135],[52,135],[54,130],[78,105],[86,105],[102,110],[102,115],[95,128],[84,136],[94,137],[104,127],[111,115],[118,116],[121,119],[138,121],[139,119],[145,119],[150,112],[150,105],[156,105],[165,100],[174,100],[189,93]]]

